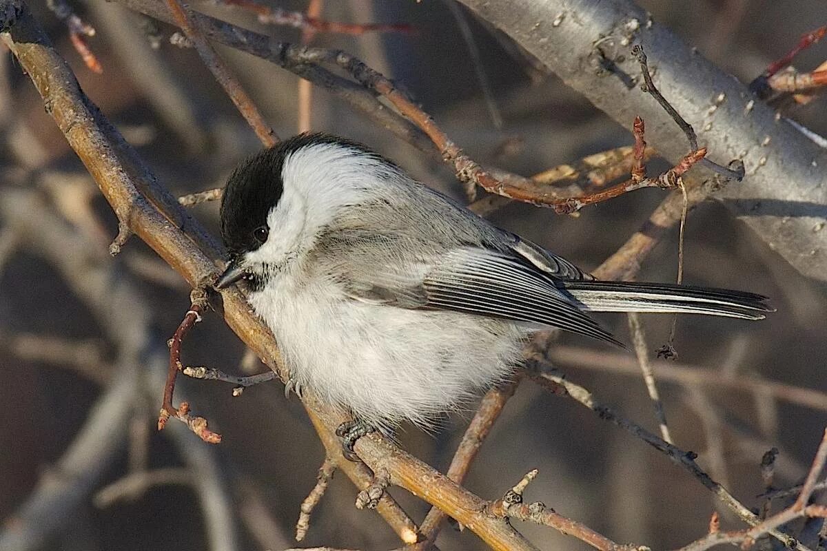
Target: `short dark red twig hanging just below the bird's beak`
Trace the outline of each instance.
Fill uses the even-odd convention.
[[[193,416],[189,412],[188,402],[182,401],[181,405],[178,407],[172,405],[172,396],[175,390],[175,379],[178,377],[179,371],[184,368],[181,363],[181,341],[184,339],[184,336],[189,333],[189,330],[192,329],[198,321],[201,321],[201,313],[203,312],[206,304],[206,292],[194,291],[193,303],[189,306],[189,311],[187,311],[184,316],[184,320],[181,321],[178,329],[175,330],[174,335],[172,335],[172,339],[170,339],[170,368],[166,375],[164,401],[161,404],[160,414],[158,416],[158,430],[163,430],[166,426],[167,420],[169,420],[170,417],[173,417],[174,419],[180,420],[187,425],[189,430],[192,430],[196,435],[198,435],[198,438],[202,439],[204,442],[208,442],[209,444],[218,444],[221,442],[221,435],[208,429],[206,419],[203,417]]]

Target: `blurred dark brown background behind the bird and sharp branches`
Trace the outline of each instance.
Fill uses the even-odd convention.
[[[299,1],[262,3],[299,12],[308,7]],[[825,22],[819,0],[795,2],[795,9],[791,2],[769,0],[640,3],[744,83]],[[629,132],[451,0],[324,0],[321,5],[321,17],[330,21],[412,26],[414,33],[318,33],[312,44],[347,50],[397,79],[483,164],[529,176],[632,142]],[[233,166],[259,149],[195,51],[170,45],[173,27],[114,2],[73,2],[97,31],[86,39],[103,68],[96,74],[74,50],[55,13],[42,2],[30,7],[88,96],[174,194],[222,186]],[[221,2],[192,7],[279,40],[301,40],[302,31],[263,25],[238,7]],[[218,51],[276,133],[294,134],[299,79],[250,55],[220,45]],[[815,45],[796,58],[796,67],[813,69],[825,55],[825,45]],[[276,382],[232,397],[226,383],[179,378],[181,396],[189,397],[224,440],[210,447],[180,427],[156,433],[165,340],[189,306],[189,288],[136,238],[117,258],[109,257],[108,243],[117,233],[112,211],[7,50],[0,64],[5,177],[0,181],[0,549],[297,546],[292,534],[299,504],[323,460],[304,409],[295,397],[285,400]],[[313,130],[360,140],[423,182],[462,198],[452,170],[437,156],[398,140],[323,90],[312,94]],[[787,107],[784,115],[824,135],[825,107],[822,95]],[[656,159],[650,166],[654,172],[667,164]],[[591,269],[638,229],[665,193],[633,192],[576,217],[511,204],[490,218]],[[216,202],[194,207],[194,216],[212,230],[217,214]],[[676,254],[675,229],[638,278],[674,280]],[[802,277],[715,202],[689,217],[685,281],[759,292],[772,297],[778,310],[754,323],[681,317],[680,358],[660,380],[675,443],[699,454],[700,465],[716,481],[758,508],[764,501],[757,497],[764,491],[762,454],[772,447],[780,452],[775,487],[800,483],[827,423],[825,394],[798,392],[827,392],[825,289]],[[667,339],[671,320],[643,316],[653,356]],[[629,342],[624,316],[604,315],[600,321]],[[567,378],[657,432],[637,368],[615,368],[619,359],[628,364],[631,353],[566,335],[561,347],[572,360],[555,367]],[[600,354],[595,359],[581,349]],[[218,316],[206,316],[184,345],[185,363],[240,374],[265,369],[244,357],[243,344]],[[669,377],[672,371],[698,377],[679,383]],[[755,378],[789,387],[782,393],[770,385],[758,392],[746,384]],[[448,417],[444,430],[433,435],[404,430],[399,440],[444,472],[470,415]],[[664,455],[574,401],[523,382],[466,487],[495,498],[532,468],[540,474],[528,489],[529,501],[544,501],[618,542],[681,547],[705,534],[718,507],[710,492]],[[49,501],[55,492],[60,499]],[[422,520],[426,504],[399,488],[391,492],[414,520]],[[351,482],[338,474],[301,545],[399,547],[379,515],[353,507],[355,496]],[[782,505],[777,501],[775,510]],[[721,513],[725,528],[740,528],[727,511]],[[32,518],[26,515],[45,521],[26,525]],[[541,549],[587,549],[550,529],[516,526]],[[30,535],[14,539],[16,530]],[[3,542],[9,547],[2,548]],[[453,526],[442,530],[438,544],[485,549],[470,531]]]

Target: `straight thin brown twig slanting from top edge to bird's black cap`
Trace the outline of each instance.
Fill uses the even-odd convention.
[[[232,74],[230,69],[227,68],[227,65],[224,64],[221,57],[213,50],[213,46],[209,44],[206,37],[204,37],[203,33],[198,29],[198,22],[189,14],[189,8],[184,7],[179,0],[167,0],[167,4],[175,18],[176,24],[181,27],[181,30],[184,31],[187,38],[192,41],[195,50],[198,51],[198,55],[201,56],[204,64],[207,65],[207,68],[213,73],[215,79],[221,84],[224,91],[227,92],[227,95],[232,99],[238,111],[244,116],[247,124],[256,132],[261,143],[267,147],[272,147],[277,144],[279,142],[278,136],[276,136],[273,129],[267,125],[256,105],[251,101],[250,97],[247,96],[244,89],[241,88],[241,84],[238,83],[237,78]]]

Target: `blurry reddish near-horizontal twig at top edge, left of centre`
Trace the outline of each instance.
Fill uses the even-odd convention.
[[[340,35],[361,36],[366,32],[400,32],[410,34],[414,27],[407,23],[342,23],[325,21],[317,12],[308,7],[307,13],[290,12],[279,7],[263,6],[251,0],[218,0],[227,6],[241,7],[258,16],[260,23],[280,26],[292,26],[302,31],[332,32]]]

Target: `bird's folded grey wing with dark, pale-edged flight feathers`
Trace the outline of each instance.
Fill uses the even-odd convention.
[[[412,252],[428,249],[420,244],[388,235],[347,234],[349,239],[337,235],[335,247],[336,256],[347,262],[328,269],[355,300],[551,325],[620,344],[554,284],[555,279],[590,276],[537,245],[515,241],[504,251],[455,246],[421,258]]]

